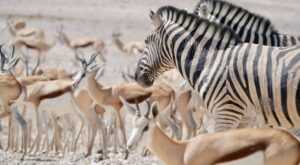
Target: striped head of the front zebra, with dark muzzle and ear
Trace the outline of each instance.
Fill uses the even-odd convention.
[[[150,18],[155,30],[145,40],[146,46],[135,72],[135,80],[144,87],[152,86],[161,73],[174,67],[173,58],[166,51],[166,45],[163,45],[166,42],[161,33],[165,24],[153,11],[150,12]]]

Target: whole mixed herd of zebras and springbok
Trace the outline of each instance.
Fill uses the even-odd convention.
[[[22,160],[76,152],[126,159],[142,146],[168,165],[212,165],[261,151],[264,164],[300,164],[300,37],[223,0],[200,0],[194,11],[162,6],[150,20],[145,43],[112,35],[138,63],[135,73],[124,67],[122,83],[105,86],[104,41],[72,39],[61,26],[56,38],[76,67],[48,69],[45,56],[56,42],[8,19],[11,39],[0,46],[0,120],[8,125],[1,149]],[[41,109],[65,95],[72,108]]]

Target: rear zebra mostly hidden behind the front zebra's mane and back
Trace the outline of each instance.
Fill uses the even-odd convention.
[[[276,47],[300,43],[300,37],[279,33],[269,19],[223,0],[200,0],[194,13],[228,26],[243,42]]]

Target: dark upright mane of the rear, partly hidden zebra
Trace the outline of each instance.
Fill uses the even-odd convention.
[[[202,3],[206,3],[206,2],[203,2],[204,0],[200,0],[195,9],[194,9],[194,14],[196,15],[199,15],[199,12],[200,12],[200,6]],[[229,6],[231,9],[240,9],[241,11],[245,12],[245,13],[248,13],[249,15],[253,16],[254,18],[257,18],[257,19],[260,19],[262,20],[262,22],[266,25],[266,26],[269,26],[269,28],[273,31],[273,32],[278,32],[278,30],[275,28],[275,26],[272,24],[271,20],[262,16],[262,15],[259,15],[259,14],[256,14],[256,13],[253,13],[241,6],[238,6],[238,5],[235,5],[233,3],[230,3],[230,2],[227,2],[227,1],[224,1],[224,0],[206,0],[208,1],[208,3],[213,3],[213,2],[216,2],[216,3],[220,3],[220,4],[223,4],[223,5],[227,5]]]

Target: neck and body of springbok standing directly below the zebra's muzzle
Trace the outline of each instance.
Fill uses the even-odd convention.
[[[153,100],[159,101],[159,106],[164,108],[175,95],[174,91],[166,84],[158,84],[148,89],[141,87],[137,83],[124,83],[105,88],[102,84],[97,82],[95,78],[96,73],[97,72],[91,72],[91,74],[87,76],[87,89],[95,103],[102,106],[112,106],[117,111],[118,125],[122,131],[123,142],[125,143],[127,140],[121,117],[123,103],[119,96],[122,96],[130,103],[136,104],[150,98],[150,102]]]

